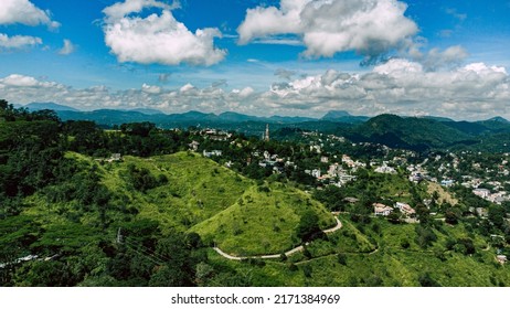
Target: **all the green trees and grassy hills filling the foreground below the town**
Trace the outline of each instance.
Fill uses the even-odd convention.
[[[223,156],[188,151],[192,141]],[[277,163],[274,173],[249,160],[255,151],[299,168]],[[213,140],[151,122],[104,130],[0,100],[0,285],[510,285],[508,266],[495,259],[495,251],[509,255],[508,203],[415,184],[402,170],[360,169],[342,188],[312,190],[318,183],[304,170],[317,164],[306,143],[235,132]],[[397,201],[413,203],[419,223],[372,215],[373,203]],[[488,217],[472,215],[474,206]],[[342,228],[323,234],[334,225],[330,212],[342,212]],[[290,256],[243,262],[212,248],[255,256],[301,244]]]

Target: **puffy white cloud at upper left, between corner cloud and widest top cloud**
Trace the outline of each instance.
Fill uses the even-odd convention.
[[[161,13],[139,14],[149,8]],[[223,61],[226,51],[214,46],[214,39],[222,35],[220,30],[206,28],[193,33],[176,20],[171,9],[156,0],[126,0],[104,9],[106,45],[119,62],[209,66]]]

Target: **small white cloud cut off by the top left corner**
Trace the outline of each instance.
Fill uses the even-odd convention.
[[[0,6],[0,24],[21,23],[26,25],[45,24],[56,29],[60,23],[51,20],[49,11],[43,11],[29,0],[2,0]]]

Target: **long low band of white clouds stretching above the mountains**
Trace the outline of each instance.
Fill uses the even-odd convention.
[[[82,109],[148,107],[166,113],[235,110],[265,116],[321,116],[331,109],[344,109],[366,116],[395,113],[456,119],[510,118],[510,77],[504,67],[471,63],[433,72],[404,58],[358,74],[328,70],[275,83],[264,92],[251,86],[225,90],[192,84],[174,89],[149,84],[126,90],[104,86],[75,89],[13,74],[0,78],[0,97],[21,104],[56,102]]]

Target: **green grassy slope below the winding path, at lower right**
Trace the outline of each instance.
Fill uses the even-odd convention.
[[[469,235],[464,225],[438,225],[433,230],[437,239],[422,247],[416,224],[393,225],[378,219],[369,225],[355,225],[348,216],[341,221],[346,230],[310,245],[308,257],[298,254],[286,263],[266,260],[255,266],[214,253],[210,259],[247,286],[510,285],[508,265],[496,263],[493,249],[481,237],[471,235],[472,254],[458,245],[459,238]],[[448,245],[453,239],[457,245]],[[215,279],[229,284],[221,276]]]

